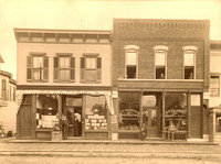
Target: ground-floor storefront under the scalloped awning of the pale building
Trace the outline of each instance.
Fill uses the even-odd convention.
[[[110,91],[25,90],[20,100],[18,138],[110,139]]]

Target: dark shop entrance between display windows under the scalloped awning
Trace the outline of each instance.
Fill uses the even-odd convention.
[[[66,97],[65,114],[67,119],[66,135],[82,136],[82,98]]]

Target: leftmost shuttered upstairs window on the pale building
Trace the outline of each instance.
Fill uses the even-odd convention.
[[[49,57],[45,54],[31,53],[30,56],[27,56],[27,80],[49,80]]]

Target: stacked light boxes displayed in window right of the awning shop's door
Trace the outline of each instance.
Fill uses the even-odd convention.
[[[107,130],[107,120],[104,116],[86,116],[85,130]]]

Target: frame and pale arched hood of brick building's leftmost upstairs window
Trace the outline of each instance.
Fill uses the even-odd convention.
[[[139,46],[137,45],[126,45],[125,47],[125,79],[138,79],[138,50],[139,50]],[[127,78],[127,53],[136,53],[136,75],[135,75],[135,78]],[[131,66],[131,65],[130,65]]]

